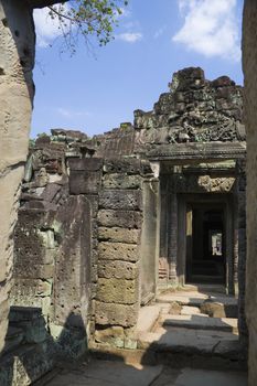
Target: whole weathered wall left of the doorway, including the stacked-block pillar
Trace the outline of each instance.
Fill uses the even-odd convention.
[[[119,347],[133,345],[130,336],[146,297],[141,289],[148,280],[154,297],[157,286],[157,224],[153,249],[147,255],[140,249],[143,185],[150,183],[152,192],[154,184],[149,162],[84,157],[84,149],[78,133],[62,130],[39,138],[31,149],[11,294],[13,305],[43,310],[55,344],[72,356],[83,352],[85,339],[110,343],[117,333]],[[148,238],[144,245],[149,247]],[[140,257],[152,250],[147,279],[140,275]],[[65,349],[72,333],[73,343]]]

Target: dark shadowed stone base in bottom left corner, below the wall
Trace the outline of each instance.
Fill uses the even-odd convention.
[[[87,333],[81,315],[69,313],[64,325],[51,331],[40,308],[12,307],[0,361],[0,385],[30,385],[58,361],[69,363],[87,352]]]

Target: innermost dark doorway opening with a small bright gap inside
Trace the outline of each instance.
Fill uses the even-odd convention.
[[[186,281],[225,283],[224,207],[189,204],[186,217]]]

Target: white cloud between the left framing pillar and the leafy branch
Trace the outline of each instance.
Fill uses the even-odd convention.
[[[67,6],[63,6],[67,9]],[[36,44],[40,47],[47,47],[53,40],[63,34],[60,29],[60,22],[56,19],[52,19],[49,14],[49,8],[34,10],[34,22],[36,32]]]

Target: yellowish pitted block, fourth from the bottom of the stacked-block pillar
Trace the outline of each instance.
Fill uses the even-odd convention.
[[[119,260],[99,260],[98,277],[106,279],[136,279],[139,275],[138,264]]]

